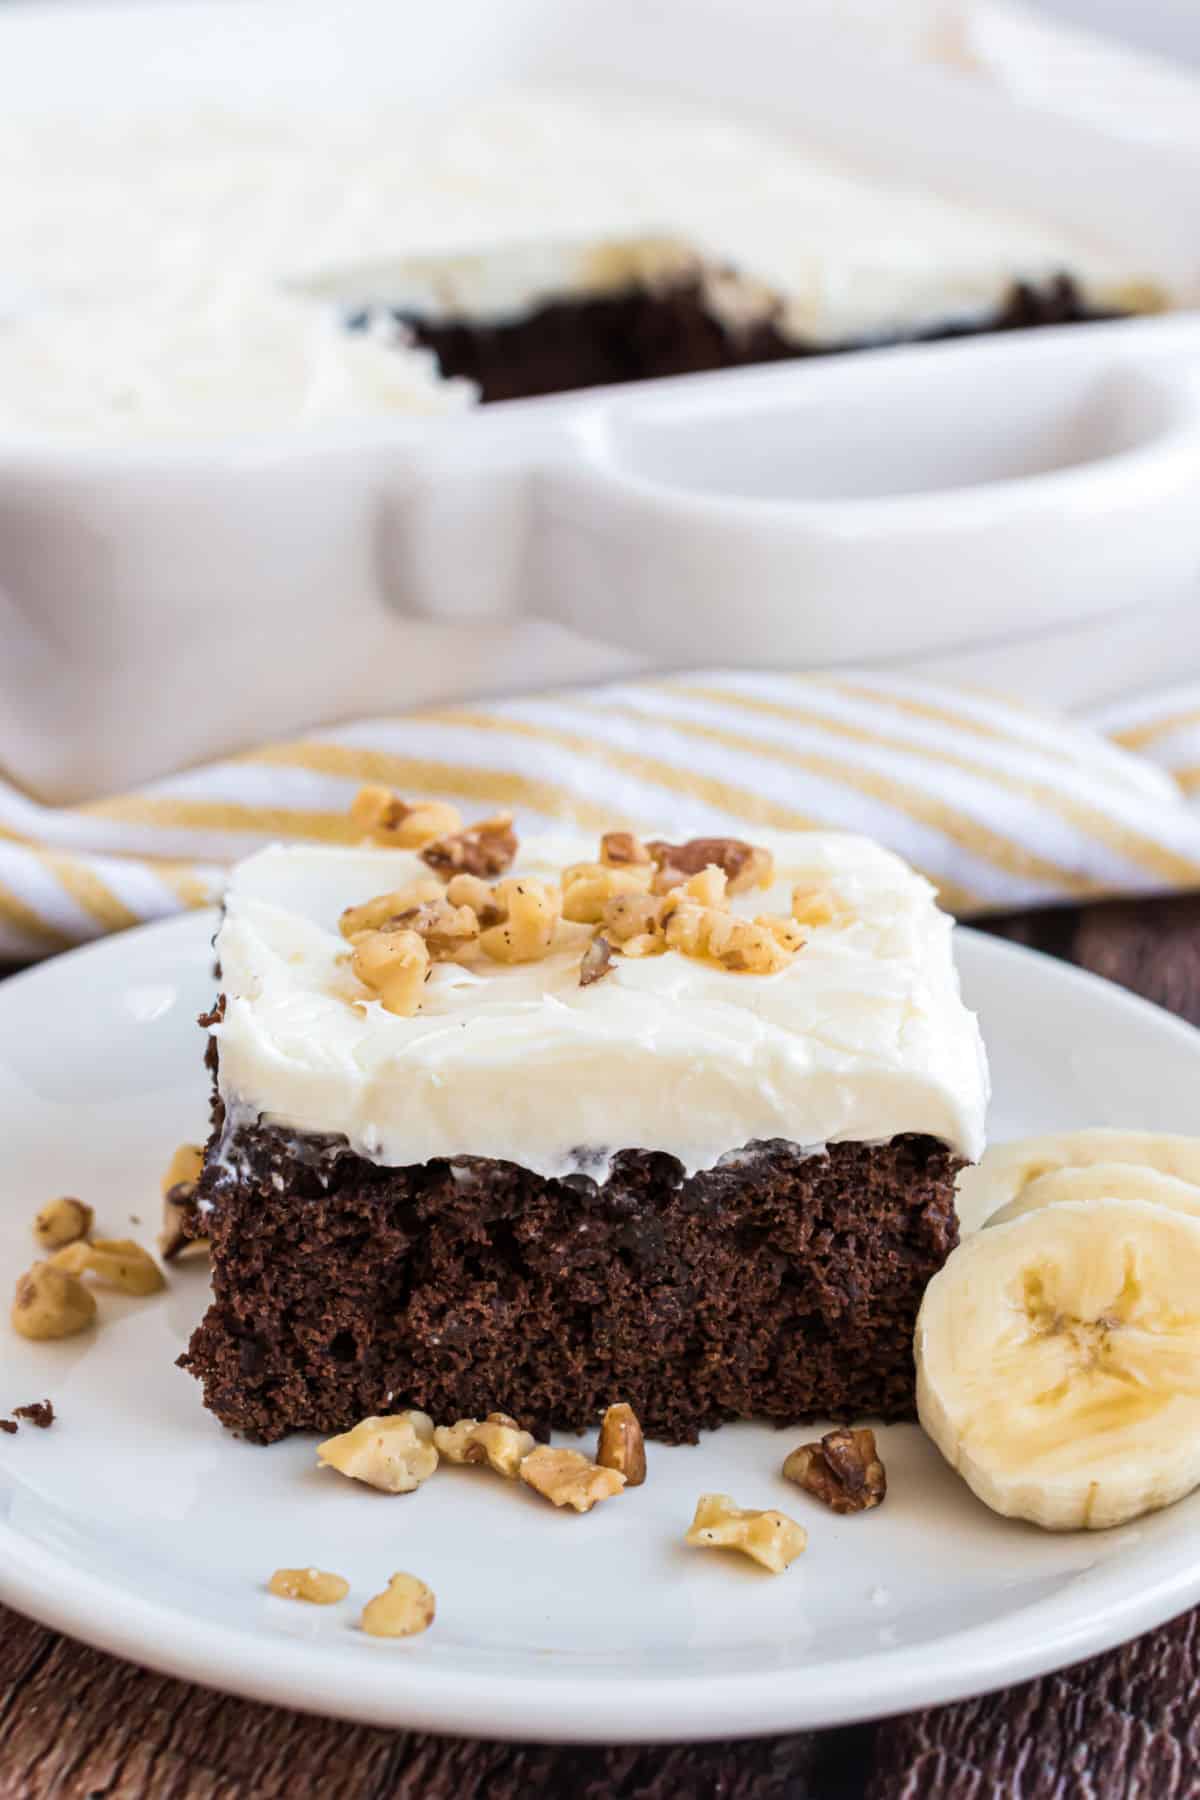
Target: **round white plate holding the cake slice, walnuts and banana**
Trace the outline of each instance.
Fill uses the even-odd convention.
[[[151,925],[0,986],[0,1269],[29,1219],[79,1193],[153,1240],[158,1174],[201,1134],[196,1012],[210,920]],[[1186,1130],[1200,1035],[1106,983],[963,932],[995,1071],[993,1136],[1078,1125]],[[130,1228],[130,1215],[140,1224]],[[1200,1496],[1137,1526],[1051,1537],[990,1514],[916,1426],[882,1433],[880,1512],[838,1519],[783,1481],[801,1433],[730,1426],[651,1447],[649,1480],[587,1517],[473,1469],[390,1498],[318,1472],[313,1440],[255,1449],[201,1411],[175,1357],[203,1267],[166,1300],[104,1300],[99,1334],[7,1332],[0,1597],[171,1674],[380,1724],[480,1737],[700,1739],[948,1701],[1074,1661],[1200,1598]],[[808,1436],[810,1433],[802,1433]],[[696,1496],[775,1505],[810,1530],[770,1577],[680,1543]],[[318,1609],[273,1600],[279,1564],[349,1577]],[[434,1629],[354,1629],[394,1570],[437,1593]]]

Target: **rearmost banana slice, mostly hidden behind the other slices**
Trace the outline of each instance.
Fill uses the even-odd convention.
[[[1096,1163],[1135,1163],[1160,1175],[1175,1175],[1200,1186],[1200,1138],[1160,1130],[1051,1132],[993,1145],[984,1159],[959,1175],[955,1195],[959,1231],[972,1231],[1015,1201],[1031,1181],[1060,1168],[1092,1168]]]

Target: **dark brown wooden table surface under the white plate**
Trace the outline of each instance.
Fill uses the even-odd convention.
[[[1200,1024],[1200,896],[1121,902],[1087,909],[1024,914],[993,931],[1081,963]],[[1103,1121],[1101,1121],[1103,1123]],[[1006,1737],[1015,1701],[1000,1696],[946,1708],[912,1724],[856,1726],[747,1742],[676,1748],[558,1750],[435,1739],[309,1719],[281,1708],[227,1699],[182,1681],[146,1674],[85,1649],[0,1607],[0,1800],[239,1800],[239,1796],[320,1796],[320,1800],[649,1800],[649,1796],[721,1796],[721,1800],[999,1800],[1002,1795],[1195,1795],[1200,1769],[1200,1701],[1195,1708],[1198,1615],[1171,1633],[1151,1634],[1135,1651],[1112,1652],[1074,1683],[1031,1683],[1022,1690],[1024,1730],[1051,1730],[1040,1771],[1027,1739]],[[1182,1670],[1160,1710],[1168,1724],[1139,1721],[1123,1697],[1128,1685],[1148,1690],[1146,1665]],[[1155,1665],[1157,1667],[1157,1665]],[[1096,1706],[1119,1723],[1105,1750],[1083,1723],[1065,1730],[1076,1706]],[[1153,1685],[1153,1683],[1150,1683]],[[1103,1690],[1103,1694],[1101,1694]],[[988,1764],[966,1764],[945,1746],[986,1744]],[[1072,1732],[1081,1741],[1072,1741]],[[1139,1735],[1141,1733],[1141,1735]],[[1119,1741],[1126,1742],[1128,1762]],[[1153,1777],[1130,1773],[1144,1742],[1166,1757]],[[930,1750],[930,1744],[941,1748]],[[995,1744],[1000,1748],[997,1750]],[[1013,1771],[1004,1773],[1011,1744]],[[1130,1748],[1132,1746],[1132,1748]],[[1166,1750],[1162,1748],[1166,1746]],[[1171,1760],[1171,1748],[1178,1755]],[[907,1760],[909,1759],[909,1760]],[[912,1759],[918,1759],[916,1762]],[[1033,1773],[1031,1773],[1033,1768]]]

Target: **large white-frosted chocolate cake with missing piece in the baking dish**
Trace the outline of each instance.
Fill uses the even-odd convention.
[[[0,428],[457,410],[1168,299],[1033,214],[619,97],[0,122]]]

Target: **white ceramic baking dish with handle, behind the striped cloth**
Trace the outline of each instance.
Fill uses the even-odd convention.
[[[459,101],[515,79],[651,85],[1034,207],[1196,290],[1184,158],[804,41],[783,0],[351,9],[367,13],[356,34],[347,9],[18,7],[0,103],[72,85],[81,104],[85,85],[130,106],[237,101],[264,70],[275,95],[326,103],[380,81],[398,103],[448,83]],[[1056,698],[1177,670],[1178,635],[1141,621],[1195,592],[1198,365],[1182,315],[426,427],[0,441],[0,769],[81,799],[347,715],[639,668],[887,659]]]

